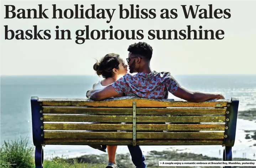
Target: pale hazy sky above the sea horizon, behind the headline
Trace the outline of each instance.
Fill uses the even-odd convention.
[[[38,9],[42,4],[49,19],[4,19],[5,6],[15,5],[17,9]],[[74,4],[84,5],[84,11],[95,4],[97,9],[116,9],[110,23],[106,19],[51,19],[52,4],[63,11],[74,10]],[[140,5],[139,9],[156,9],[154,19],[120,19],[119,4],[129,9],[130,4]],[[213,4],[215,9],[230,9],[229,19],[196,19],[184,18],[181,5],[200,5],[208,9]],[[130,44],[144,41],[153,47],[151,68],[156,71],[169,71],[177,74],[256,74],[256,1],[1,1],[1,75],[95,75],[93,64],[108,53],[118,53],[127,58],[127,48]],[[80,9],[80,8],[79,8]],[[176,19],[161,19],[161,9],[177,9]],[[195,8],[194,8],[195,9]],[[208,9],[209,11],[209,9]],[[111,10],[112,12],[112,10]],[[27,15],[26,15],[27,16]],[[208,14],[209,16],[209,14]],[[4,26],[14,31],[22,29],[51,30],[49,40],[5,40]],[[84,44],[76,44],[75,31],[85,29],[89,32],[110,29],[143,30],[142,40],[85,40]],[[149,40],[148,31],[153,30],[187,30],[212,29],[216,32],[222,29],[223,40]],[[69,29],[70,40],[55,40],[56,26]],[[43,32],[43,31],[42,31]],[[167,32],[166,32],[167,33]],[[41,33],[43,35],[43,33]],[[193,34],[193,33],[192,33]],[[11,33],[9,33],[9,37]],[[161,34],[162,36],[162,34]],[[85,37],[85,36],[83,36]],[[101,36],[102,37],[102,36]],[[106,36],[109,37],[109,36]],[[95,58],[95,59],[94,59]]]

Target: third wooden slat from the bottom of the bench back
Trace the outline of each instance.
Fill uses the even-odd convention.
[[[44,130],[132,131],[132,124],[45,123]],[[224,131],[224,124],[136,124],[137,131]]]

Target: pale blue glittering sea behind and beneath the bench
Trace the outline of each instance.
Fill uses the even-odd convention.
[[[254,110],[256,113],[256,75],[174,75],[176,80],[192,91],[220,92],[226,99],[239,98],[239,112]],[[1,76],[0,78],[0,143],[28,138],[33,145],[31,122],[31,96],[39,98],[86,98],[85,93],[93,83],[102,78],[91,76]],[[168,98],[177,99],[171,93]],[[256,130],[255,120],[237,119],[233,157],[256,159],[256,140],[246,139],[246,130]],[[89,146],[46,145],[44,158],[64,156],[79,157],[105,154]],[[210,157],[222,158],[222,146],[141,146],[143,154],[156,150],[176,150]],[[127,146],[118,146],[117,154],[129,153]]]

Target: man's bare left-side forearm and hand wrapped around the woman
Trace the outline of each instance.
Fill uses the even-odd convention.
[[[110,97],[121,97],[123,94],[118,94],[113,86],[109,85],[101,90],[87,91],[86,97],[94,101],[100,101]]]

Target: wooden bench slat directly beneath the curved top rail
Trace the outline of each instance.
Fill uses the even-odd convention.
[[[43,107],[45,114],[132,115],[132,108]],[[137,108],[136,115],[224,115],[225,108]]]

